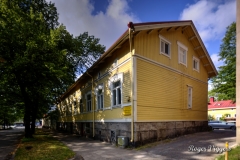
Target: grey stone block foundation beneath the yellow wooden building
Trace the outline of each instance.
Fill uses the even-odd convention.
[[[92,122],[68,122],[64,125],[68,132],[110,143],[116,143],[117,136],[127,136],[131,139],[131,122],[96,122],[94,136]],[[184,134],[207,131],[207,129],[207,121],[135,122],[133,145],[139,146]]]

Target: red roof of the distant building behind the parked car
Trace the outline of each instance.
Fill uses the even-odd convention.
[[[222,100],[222,101],[212,101],[208,103],[208,110],[212,109],[227,109],[227,108],[236,108],[236,103],[233,103],[232,100]]]

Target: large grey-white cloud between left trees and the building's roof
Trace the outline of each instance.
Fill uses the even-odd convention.
[[[48,0],[50,1],[50,0]],[[59,13],[59,22],[74,36],[83,32],[100,38],[108,49],[127,30],[129,21],[139,19],[129,12],[126,0],[110,0],[106,11],[93,15],[94,5],[89,0],[51,0]]]

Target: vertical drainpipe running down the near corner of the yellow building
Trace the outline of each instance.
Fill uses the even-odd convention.
[[[132,32],[134,32],[134,26],[133,26],[133,23],[132,22],[129,22],[128,23],[128,34],[129,34],[129,49],[130,49],[130,53],[132,55],[132,75],[131,75],[131,82],[132,82],[132,95],[131,95],[131,104],[132,104],[132,107],[131,107],[131,118],[132,118],[132,121],[131,121],[131,142],[134,143],[134,61],[133,61],[133,53],[132,53]]]

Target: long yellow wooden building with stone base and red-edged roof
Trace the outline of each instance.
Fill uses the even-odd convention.
[[[204,130],[217,71],[193,22],[128,26],[62,95],[58,128],[135,144]]]

